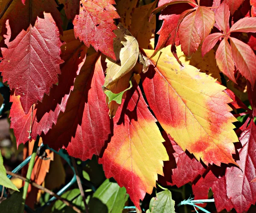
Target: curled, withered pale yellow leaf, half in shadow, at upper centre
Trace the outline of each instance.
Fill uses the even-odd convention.
[[[139,57],[139,45],[131,33],[119,24],[115,31],[114,51],[116,61],[107,58],[107,69],[104,86],[108,87],[116,83],[125,74],[131,71]]]

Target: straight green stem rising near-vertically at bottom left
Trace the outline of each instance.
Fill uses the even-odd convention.
[[[24,206],[25,206],[25,201],[26,201],[26,195],[28,193],[28,188],[29,188],[29,182],[30,182],[30,178],[31,178],[31,174],[32,174],[32,170],[35,164],[35,156],[36,156],[36,151],[38,149],[38,143],[39,143],[39,139],[40,136],[38,136],[36,138],[36,141],[34,143],[34,147],[33,147],[33,151],[32,151],[32,155],[31,155],[31,159],[29,162],[29,168],[26,174],[26,181],[24,184],[24,188],[23,188],[23,195],[22,195],[22,207],[21,207],[21,213],[24,212]]]

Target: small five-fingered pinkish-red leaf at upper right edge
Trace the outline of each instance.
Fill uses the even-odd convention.
[[[221,30],[223,30],[223,34],[213,33],[209,35],[202,45],[202,55],[204,56],[204,54],[215,46],[219,39],[223,38],[216,52],[216,60],[219,69],[227,75],[230,80],[236,83],[234,76],[235,63],[236,69],[238,69],[241,75],[247,78],[251,85],[254,86],[256,80],[256,56],[250,46],[234,37],[231,37],[230,33],[256,32],[256,18],[244,17],[234,23],[229,29],[229,16],[230,11],[224,1],[216,12],[216,22],[220,26]],[[227,39],[230,40],[230,44]]]

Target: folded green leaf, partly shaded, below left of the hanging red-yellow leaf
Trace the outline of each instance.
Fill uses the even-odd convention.
[[[125,187],[106,179],[90,199],[90,213],[122,213],[128,197]]]

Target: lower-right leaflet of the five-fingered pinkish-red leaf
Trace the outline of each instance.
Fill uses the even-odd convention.
[[[256,79],[256,56],[246,43],[230,37],[233,60],[239,72],[254,86]]]

